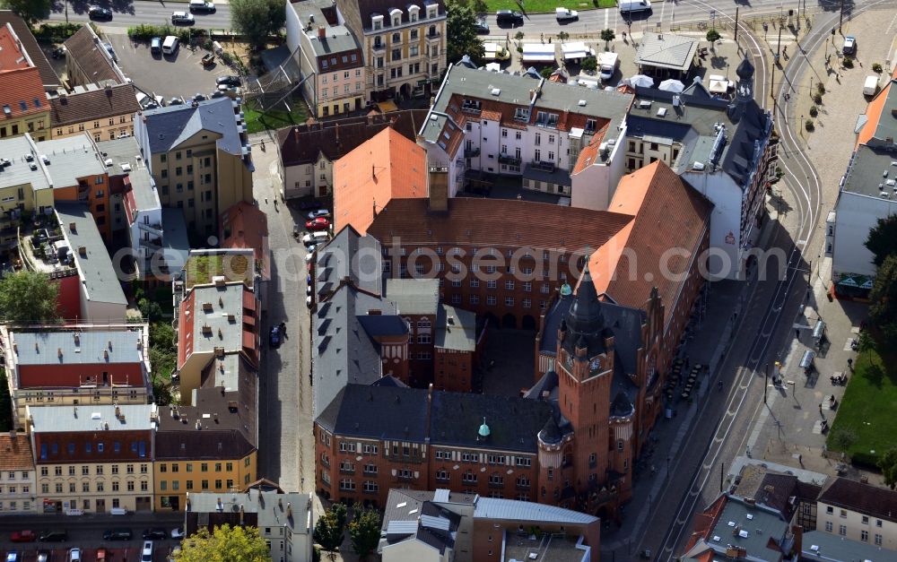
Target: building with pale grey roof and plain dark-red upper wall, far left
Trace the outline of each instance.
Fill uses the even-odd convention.
[[[152,402],[147,324],[0,326],[0,338],[16,428],[28,406]]]

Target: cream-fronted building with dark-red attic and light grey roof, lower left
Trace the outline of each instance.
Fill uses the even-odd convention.
[[[154,404],[27,406],[26,416],[40,512],[152,510]]]

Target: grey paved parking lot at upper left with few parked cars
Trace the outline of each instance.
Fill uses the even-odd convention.
[[[208,95],[215,90],[215,78],[233,73],[221,62],[204,68],[201,60],[208,51],[201,48],[191,50],[181,45],[174,55],[152,55],[149,43],[132,41],[126,35],[109,34],[108,40],[127,77],[141,90],[166,100],[173,96],[189,98],[197,93]]]

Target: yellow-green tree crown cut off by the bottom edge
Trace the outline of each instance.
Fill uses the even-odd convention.
[[[177,562],[270,562],[268,545],[257,527],[228,524],[215,527],[213,533],[200,529],[181,544]]]

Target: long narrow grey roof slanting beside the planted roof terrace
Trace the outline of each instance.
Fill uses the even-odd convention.
[[[87,206],[83,203],[55,204],[59,228],[72,249],[74,264],[87,291],[87,298],[93,302],[127,305],[125,292],[121,290],[121,282],[112,266],[109,251]],[[79,252],[82,246],[85,249],[84,255]]]

